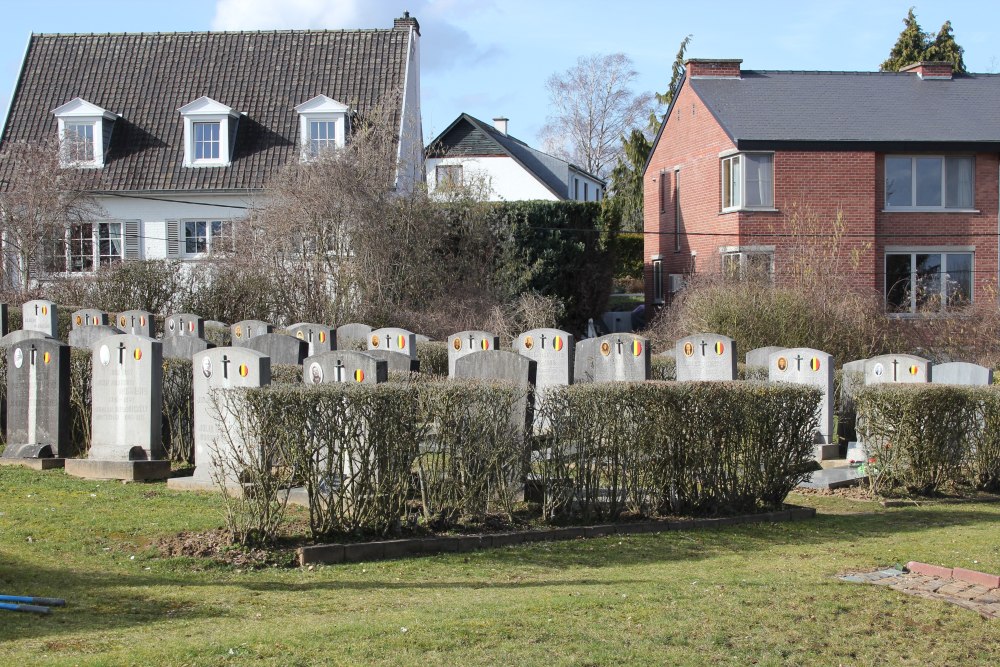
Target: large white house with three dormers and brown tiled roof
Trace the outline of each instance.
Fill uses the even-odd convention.
[[[391,100],[396,188],[422,178],[420,26],[32,35],[0,144],[58,137],[103,209],[50,270],[198,260],[225,246],[283,165],[343,146]],[[15,164],[0,164],[0,187]]]

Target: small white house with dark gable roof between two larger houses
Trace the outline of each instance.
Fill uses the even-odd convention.
[[[463,113],[426,148],[427,188],[482,186],[490,201],[543,199],[600,201],[605,182],[579,167],[507,134],[506,118],[494,125]]]

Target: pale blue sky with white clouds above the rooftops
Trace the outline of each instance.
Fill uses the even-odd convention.
[[[742,58],[748,69],[875,70],[916,0],[2,0],[0,113],[6,116],[32,32],[388,28],[409,10],[421,24],[425,138],[461,112],[510,118],[539,145],[545,80],[582,55],[623,52],[636,89],[663,91],[678,44],[691,57]],[[970,71],[1000,72],[996,0],[916,4],[920,25],[950,19]]]

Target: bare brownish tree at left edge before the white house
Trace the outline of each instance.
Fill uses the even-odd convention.
[[[57,142],[14,142],[0,153],[0,224],[5,284],[22,292],[43,273],[46,254],[65,257],[65,231],[95,218],[100,207],[83,171],[63,167]]]

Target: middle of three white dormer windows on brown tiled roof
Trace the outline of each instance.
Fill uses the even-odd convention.
[[[239,114],[210,97],[199,97],[177,111],[184,119],[184,166],[228,167]]]

